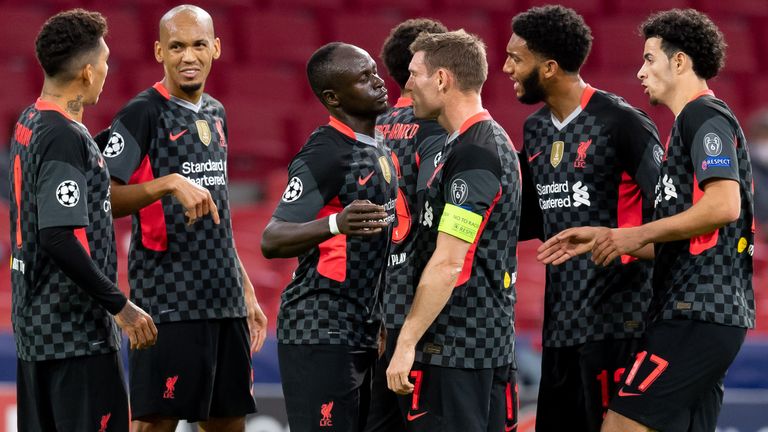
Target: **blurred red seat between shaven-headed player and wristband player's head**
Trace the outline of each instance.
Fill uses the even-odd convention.
[[[305,13],[253,12],[243,20],[242,39],[255,63],[306,64],[322,45],[318,23]]]

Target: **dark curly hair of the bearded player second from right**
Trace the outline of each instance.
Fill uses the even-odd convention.
[[[576,73],[592,48],[592,31],[575,10],[548,5],[533,7],[512,18],[512,31],[532,52]]]

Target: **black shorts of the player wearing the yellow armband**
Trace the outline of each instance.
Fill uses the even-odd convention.
[[[414,363],[413,393],[398,396],[409,432],[515,431],[517,383],[512,365],[459,369]]]

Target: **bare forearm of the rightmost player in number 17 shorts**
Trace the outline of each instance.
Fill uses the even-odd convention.
[[[711,233],[737,220],[741,213],[739,183],[717,180],[688,210],[638,227],[643,244],[686,240]]]

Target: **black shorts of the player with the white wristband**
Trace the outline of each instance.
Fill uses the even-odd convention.
[[[376,350],[278,343],[277,355],[292,431],[362,430]]]

